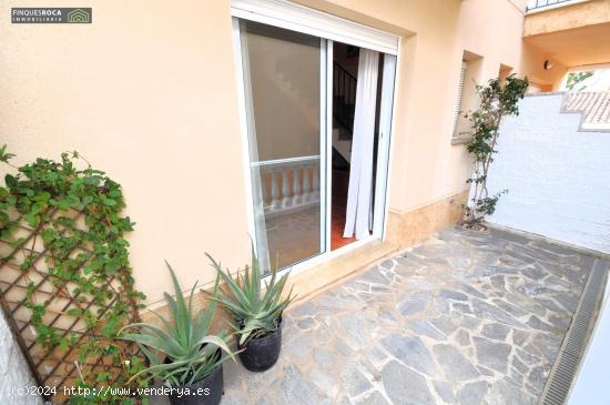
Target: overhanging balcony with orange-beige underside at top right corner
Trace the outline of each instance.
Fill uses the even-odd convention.
[[[567,67],[610,62],[610,0],[530,0],[523,39]]]

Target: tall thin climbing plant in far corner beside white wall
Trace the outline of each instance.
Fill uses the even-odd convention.
[[[472,186],[470,203],[465,205],[464,223],[467,227],[481,227],[485,215],[491,215],[500,195],[508,192],[502,190],[489,195],[487,175],[494,154],[498,153],[496,144],[500,122],[504,117],[519,114],[518,102],[525,97],[528,85],[527,78],[519,79],[515,74],[510,74],[504,84],[499,79],[491,79],[487,85],[477,85],[480,104],[470,114],[472,138],[466,143],[466,150],[474,158],[472,178],[466,181]]]

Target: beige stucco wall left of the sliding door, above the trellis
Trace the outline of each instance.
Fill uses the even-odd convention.
[[[11,24],[0,3],[0,143],[16,163],[79,150],[119,181],[150,301],[248,253],[230,2],[91,1],[93,23]],[[65,6],[50,1],[44,6]],[[180,12],[172,10],[189,10]]]

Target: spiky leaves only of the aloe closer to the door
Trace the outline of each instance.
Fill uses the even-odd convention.
[[[270,282],[265,282],[264,293],[261,290],[261,269],[258,259],[252,246],[252,266],[232,276],[228,269],[222,270],[210,254],[212,266],[216,270],[217,277],[225,282],[226,291],[220,290],[212,300],[217,301],[233,316],[234,325],[240,335],[240,345],[248,340],[262,337],[274,332],[279,326],[282,313],[292,302],[292,288],[288,296],[283,298],[282,293],[286,286],[289,273],[286,272],[277,280],[277,264],[272,269]]]

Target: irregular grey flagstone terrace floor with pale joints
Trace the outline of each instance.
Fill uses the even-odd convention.
[[[536,404],[593,257],[449,229],[285,314],[271,371],[222,404]]]

